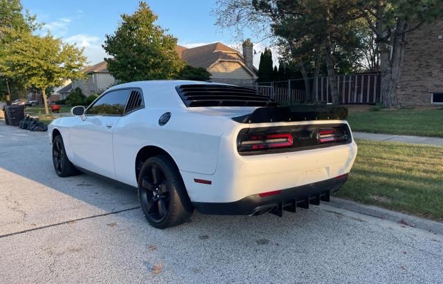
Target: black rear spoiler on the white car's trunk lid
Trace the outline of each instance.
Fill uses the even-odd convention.
[[[256,108],[248,115],[232,117],[240,123],[301,122],[305,120],[346,120],[347,108],[343,106],[271,106]]]

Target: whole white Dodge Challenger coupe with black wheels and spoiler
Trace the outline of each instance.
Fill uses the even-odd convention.
[[[60,177],[96,173],[138,188],[150,225],[255,216],[328,201],[357,146],[347,109],[278,106],[250,88],[150,81],[109,88],[48,127]]]

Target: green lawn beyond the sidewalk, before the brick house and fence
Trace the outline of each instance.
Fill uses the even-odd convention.
[[[443,108],[415,111],[352,111],[352,131],[443,137]]]

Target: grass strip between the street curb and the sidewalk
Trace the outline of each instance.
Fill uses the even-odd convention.
[[[359,153],[338,197],[443,220],[443,147],[356,142]]]

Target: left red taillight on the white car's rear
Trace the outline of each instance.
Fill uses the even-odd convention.
[[[275,133],[244,136],[239,142],[240,151],[260,151],[290,147],[293,144],[291,133]]]

